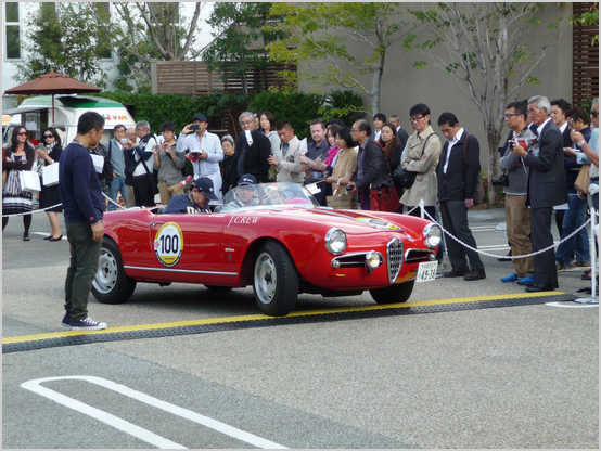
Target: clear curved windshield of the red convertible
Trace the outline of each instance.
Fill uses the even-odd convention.
[[[317,207],[318,202],[298,183],[259,183],[236,186],[223,197],[220,211],[233,211],[250,207]]]

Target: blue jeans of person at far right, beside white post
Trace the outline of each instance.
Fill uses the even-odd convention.
[[[578,198],[576,194],[570,194],[567,210],[563,217],[562,240],[585,223],[586,211],[587,201]],[[590,262],[589,249],[588,231],[584,228],[576,235],[559,245],[555,261],[567,265],[572,258],[572,253],[574,253],[576,254],[576,261]]]

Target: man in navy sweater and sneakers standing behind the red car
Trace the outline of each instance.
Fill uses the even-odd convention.
[[[59,184],[63,201],[71,261],[65,280],[63,326],[72,331],[99,331],[106,323],[88,317],[88,297],[98,270],[104,227],[104,199],[88,147],[100,142],[104,118],[84,113],[77,123],[77,136],[61,155]]]

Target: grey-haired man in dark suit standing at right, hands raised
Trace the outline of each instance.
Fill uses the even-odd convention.
[[[551,103],[542,95],[529,99],[528,115],[538,125],[538,149],[528,153],[524,147],[514,145],[512,152],[523,157],[530,169],[527,204],[530,206],[533,252],[550,247],[534,256],[535,283],[526,292],[537,293],[559,287],[551,216],[553,206],[565,204],[568,198],[563,170],[563,138],[551,120]]]

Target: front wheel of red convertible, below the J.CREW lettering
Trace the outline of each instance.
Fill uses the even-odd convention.
[[[267,242],[255,260],[253,280],[259,309],[271,317],[290,313],[298,297],[298,274],[287,249],[277,242]]]

